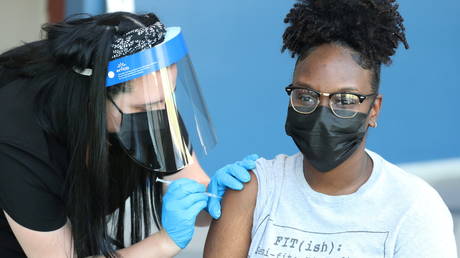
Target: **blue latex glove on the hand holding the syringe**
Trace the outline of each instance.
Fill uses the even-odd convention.
[[[173,181],[163,197],[163,228],[169,237],[184,249],[192,240],[198,213],[206,208],[206,187],[188,178]]]

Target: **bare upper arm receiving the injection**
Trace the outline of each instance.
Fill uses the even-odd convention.
[[[222,216],[213,220],[204,248],[205,258],[246,258],[251,244],[252,217],[256,206],[257,178],[241,191],[228,190],[222,201]]]

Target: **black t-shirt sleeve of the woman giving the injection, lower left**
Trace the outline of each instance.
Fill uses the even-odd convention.
[[[62,182],[45,160],[0,143],[0,210],[18,224],[36,231],[62,227],[67,221]]]

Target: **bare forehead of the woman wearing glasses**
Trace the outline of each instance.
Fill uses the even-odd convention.
[[[294,83],[321,92],[355,88],[361,93],[371,93],[372,73],[358,64],[356,56],[356,52],[342,46],[321,45],[297,63]]]

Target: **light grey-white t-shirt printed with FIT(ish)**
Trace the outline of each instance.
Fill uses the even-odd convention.
[[[248,257],[457,258],[452,216],[439,194],[366,151],[370,178],[340,196],[309,186],[300,153],[257,160]]]

